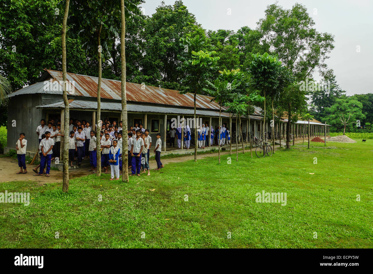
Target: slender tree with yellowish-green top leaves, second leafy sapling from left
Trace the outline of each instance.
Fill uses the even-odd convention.
[[[222,113],[222,105],[232,100],[236,95],[232,93],[240,84],[241,74],[239,73],[239,69],[232,69],[232,70],[223,70],[219,71],[219,76],[213,83],[209,80],[206,80],[207,84],[209,84],[212,89],[206,88],[206,91],[213,96],[214,98],[211,101],[216,101],[220,108],[219,108],[219,127],[221,126],[221,113]],[[219,133],[218,133],[219,134]],[[219,135],[220,136],[220,135]],[[218,144],[218,154],[219,154],[219,164],[220,164],[220,144]]]

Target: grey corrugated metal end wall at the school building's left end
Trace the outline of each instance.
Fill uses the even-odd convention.
[[[8,107],[8,127],[7,127],[7,147],[4,153],[10,149],[15,149],[16,142],[19,139],[19,133],[26,134],[27,140],[26,153],[34,157],[39,147],[39,137],[36,134],[36,128],[40,125],[40,119],[43,119],[43,110],[35,106],[41,104],[40,94],[17,95],[10,98]],[[45,119],[45,118],[44,118]],[[14,125],[15,121],[15,126]]]

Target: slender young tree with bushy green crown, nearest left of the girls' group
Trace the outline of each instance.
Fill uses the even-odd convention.
[[[198,39],[197,39],[198,40]],[[189,40],[191,41],[191,40]],[[185,86],[181,93],[191,91],[194,94],[194,161],[197,161],[197,126],[196,126],[196,105],[195,100],[197,92],[206,92],[207,81],[213,76],[213,72],[216,71],[216,62],[219,57],[213,57],[214,51],[203,51],[198,52],[191,51],[191,54],[186,56],[178,55],[179,59],[182,60],[179,70],[184,71],[185,78],[182,80],[182,84]]]

